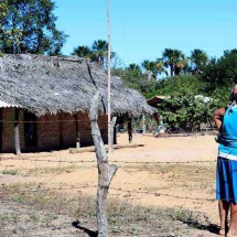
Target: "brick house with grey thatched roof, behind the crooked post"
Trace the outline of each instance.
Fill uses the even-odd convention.
[[[75,56],[3,55],[0,57],[0,152],[46,151],[93,144],[88,110],[103,95],[99,128],[107,142],[107,75]],[[111,78],[111,111],[153,114],[120,78]],[[17,143],[15,143],[17,141]]]

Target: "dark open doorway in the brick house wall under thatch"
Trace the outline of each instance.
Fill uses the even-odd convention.
[[[24,144],[28,151],[37,148],[37,117],[29,111],[24,111]]]

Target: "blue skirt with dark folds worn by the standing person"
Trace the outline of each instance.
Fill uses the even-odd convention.
[[[237,161],[217,159],[216,200],[237,203]]]

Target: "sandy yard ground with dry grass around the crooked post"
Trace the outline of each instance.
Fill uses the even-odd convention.
[[[203,160],[215,159],[212,137],[179,138],[179,141],[136,137],[136,140],[146,147],[119,149],[110,160],[177,161],[181,153],[182,162],[202,160],[202,153],[205,153]],[[120,142],[127,142],[127,138],[121,136]],[[44,154],[24,158],[71,162],[89,161],[94,155],[61,151],[53,152],[51,158]],[[0,161],[0,236],[96,236],[95,164],[69,162]],[[110,236],[215,236],[218,224],[215,202],[155,195],[214,198],[215,162],[118,165],[108,200]],[[71,188],[83,185],[89,187]]]

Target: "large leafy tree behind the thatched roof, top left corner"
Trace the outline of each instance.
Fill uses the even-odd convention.
[[[66,35],[55,25],[51,0],[4,0],[0,6],[3,53],[60,54]]]

